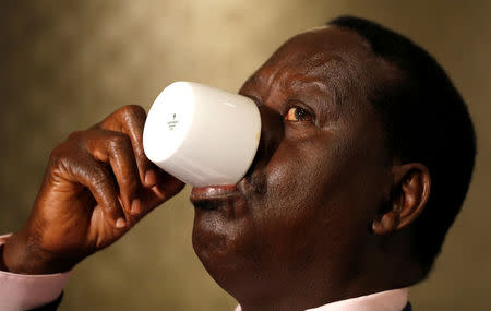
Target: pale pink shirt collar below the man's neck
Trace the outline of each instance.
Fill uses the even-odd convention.
[[[402,311],[407,304],[407,288],[391,289],[331,302],[306,311]],[[236,311],[241,311],[237,306]]]

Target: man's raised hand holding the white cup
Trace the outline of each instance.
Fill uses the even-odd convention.
[[[4,246],[9,271],[68,271],[183,188],[145,157],[145,119],[127,106],[53,149],[27,223]]]

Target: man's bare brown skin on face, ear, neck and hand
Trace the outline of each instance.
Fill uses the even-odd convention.
[[[388,155],[368,101],[394,75],[352,32],[282,46],[242,86],[260,106],[256,158],[237,187],[194,188],[193,247],[250,310],[304,310],[422,278],[411,222],[429,196],[420,164]],[[183,184],[142,149],[145,112],[124,107],[58,146],[3,268],[67,271],[117,241]]]

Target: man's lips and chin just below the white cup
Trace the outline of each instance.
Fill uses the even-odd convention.
[[[241,297],[263,273],[264,236],[254,224],[252,206],[236,187],[194,188],[190,199],[194,252],[221,288]]]

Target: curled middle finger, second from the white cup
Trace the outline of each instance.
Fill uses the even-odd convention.
[[[139,214],[141,182],[130,137],[120,132],[92,130],[85,141],[87,151],[97,160],[109,163],[118,183],[127,215]]]

